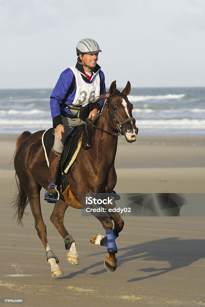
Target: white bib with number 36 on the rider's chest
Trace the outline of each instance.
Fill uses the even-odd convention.
[[[86,105],[88,103],[93,103],[95,98],[100,95],[99,73],[97,73],[92,83],[86,83],[75,66],[69,68],[73,71],[76,79],[76,94],[73,100],[73,105]]]

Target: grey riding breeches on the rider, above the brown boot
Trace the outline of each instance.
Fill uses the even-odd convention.
[[[63,122],[65,132],[62,133],[61,141],[57,141],[57,138],[55,136],[55,141],[54,141],[54,145],[53,145],[53,149],[56,150],[59,153],[63,152],[66,138],[73,131],[73,129],[77,126],[85,124],[85,121],[81,120],[81,119],[69,119],[69,118],[63,117],[63,116],[61,116],[61,119],[62,119],[62,122]]]

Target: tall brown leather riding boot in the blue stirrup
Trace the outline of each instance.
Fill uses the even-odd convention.
[[[47,202],[55,203],[58,200],[58,191],[55,186],[55,180],[61,156],[62,153],[59,153],[52,148],[49,157],[49,186],[45,191],[45,200],[47,200]]]

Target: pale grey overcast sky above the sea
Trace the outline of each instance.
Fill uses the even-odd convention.
[[[0,88],[53,88],[93,38],[106,87],[205,86],[204,0],[0,0]]]

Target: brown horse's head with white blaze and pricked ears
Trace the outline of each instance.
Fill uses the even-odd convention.
[[[128,81],[124,90],[120,91],[116,88],[116,81],[110,85],[109,96],[106,99],[104,111],[106,112],[106,123],[115,131],[125,136],[127,142],[136,141],[138,128],[135,125],[135,119],[132,117],[132,103],[129,102],[127,95],[131,90]]]

